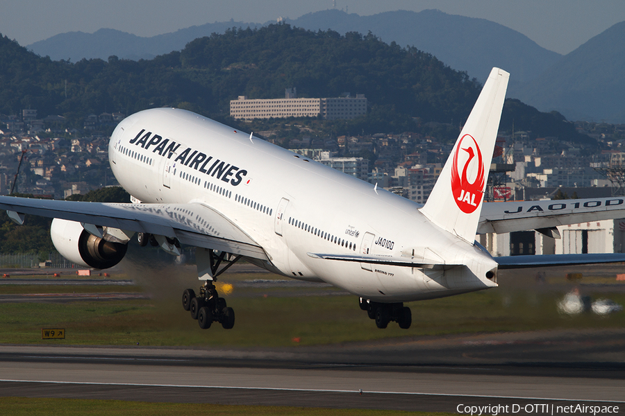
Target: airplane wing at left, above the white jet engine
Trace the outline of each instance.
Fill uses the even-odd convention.
[[[0,196],[0,209],[155,234],[182,244],[267,260],[265,250],[242,229],[198,202],[113,204]]]

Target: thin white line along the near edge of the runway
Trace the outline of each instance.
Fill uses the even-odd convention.
[[[360,390],[331,390],[317,388],[277,388],[277,387],[242,387],[226,385],[185,385],[185,384],[142,384],[142,383],[98,383],[88,381],[46,381],[46,380],[11,380],[0,379],[7,383],[51,383],[51,384],[75,384],[75,385],[124,385],[131,387],[180,387],[180,388],[228,388],[238,390],[274,390],[283,392],[319,392],[319,393],[360,393]],[[519,399],[519,400],[552,400],[552,401],[594,401],[600,403],[625,403],[623,400],[597,400],[597,399],[555,399],[551,397],[522,397],[522,396],[490,396],[490,395],[453,395],[451,393],[422,393],[422,392],[382,392],[362,391],[363,394],[376,395],[414,395],[414,396],[442,396],[442,397],[483,397],[485,399]]]

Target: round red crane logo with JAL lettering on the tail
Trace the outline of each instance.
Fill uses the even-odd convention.
[[[466,147],[462,147],[465,144]],[[462,166],[462,174],[458,175],[458,154],[468,154],[468,158]],[[477,155],[477,160],[475,157]],[[473,163],[472,163],[473,162]],[[470,173],[477,171],[473,182],[469,182]],[[451,193],[453,200],[465,214],[471,214],[479,207],[484,195],[484,164],[482,162],[482,153],[477,141],[471,135],[464,135],[456,153],[453,155],[453,164],[451,164]]]

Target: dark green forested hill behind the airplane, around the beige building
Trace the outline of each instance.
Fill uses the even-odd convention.
[[[0,54],[0,113],[33,108],[40,117],[60,114],[76,123],[88,114],[132,114],[161,106],[232,122],[231,99],[281,98],[285,88],[297,87],[301,97],[367,96],[369,116],[344,123],[338,134],[418,130],[426,121],[460,125],[481,88],[433,55],[385,44],[372,34],[342,36],[288,24],[232,29],[194,40],[181,52],[138,62],[115,56],[52,61],[6,37]],[[569,134],[561,119],[553,120],[551,130]],[[540,134],[531,118],[516,128]]]

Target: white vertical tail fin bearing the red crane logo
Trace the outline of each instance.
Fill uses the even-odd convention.
[[[510,74],[490,71],[434,189],[421,209],[439,227],[473,243]]]

